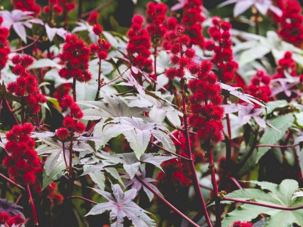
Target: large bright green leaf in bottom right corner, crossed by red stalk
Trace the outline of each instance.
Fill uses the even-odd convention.
[[[260,189],[240,189],[229,193],[226,197],[240,200],[253,200],[256,202],[281,206],[296,207],[303,204],[303,198],[292,199],[293,194],[298,189],[298,183],[294,180],[286,179],[280,185],[270,182],[248,181],[261,187]],[[263,190],[269,191],[268,193]],[[230,203],[229,201],[222,201]],[[251,204],[243,204],[232,212],[228,213],[222,221],[222,226],[229,226],[236,220],[251,221],[259,214],[270,215],[264,225],[265,227],[288,227],[293,223],[298,225],[303,223],[303,210],[278,210],[269,207],[261,207]]]

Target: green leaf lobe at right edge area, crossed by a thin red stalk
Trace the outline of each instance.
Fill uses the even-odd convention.
[[[292,113],[279,116],[273,119],[270,124],[275,128],[267,128],[264,135],[261,137],[260,144],[276,144],[287,132],[289,127],[292,125],[294,117]],[[270,147],[258,148],[257,161],[270,149]]]

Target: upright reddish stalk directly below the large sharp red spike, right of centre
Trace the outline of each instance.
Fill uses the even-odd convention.
[[[211,176],[212,176],[212,184],[215,191],[215,207],[216,207],[216,227],[221,227],[221,205],[220,205],[220,198],[217,180],[216,180],[216,173],[215,173],[215,164],[214,164],[214,157],[213,157],[213,150],[210,149],[209,151],[209,157],[210,157],[210,168],[212,170]]]

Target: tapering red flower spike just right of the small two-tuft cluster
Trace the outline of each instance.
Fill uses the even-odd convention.
[[[146,29],[142,28],[143,17],[140,15],[134,15],[132,18],[132,25],[127,32],[129,42],[126,47],[131,62],[134,66],[137,66],[140,70],[146,73],[153,72],[152,62],[150,57],[150,36]],[[133,73],[135,75],[135,73]]]

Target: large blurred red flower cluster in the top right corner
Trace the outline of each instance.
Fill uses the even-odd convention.
[[[298,1],[278,1],[283,14],[278,18],[279,35],[287,42],[301,47],[303,44],[303,16]]]

